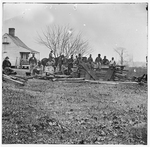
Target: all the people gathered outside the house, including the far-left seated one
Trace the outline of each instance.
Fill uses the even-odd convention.
[[[30,65],[30,73],[31,75],[42,73],[46,70],[46,67],[53,67],[54,71],[61,72],[62,74],[71,74],[72,68],[74,66],[79,66],[81,62],[88,64],[90,68],[99,70],[102,65],[115,66],[116,62],[114,57],[109,61],[106,56],[101,58],[101,54],[98,54],[95,61],[90,54],[89,57],[82,57],[81,54],[75,56],[71,55],[69,59],[67,59],[64,55],[60,55],[57,58],[54,58],[53,51],[49,53],[48,58],[44,58],[44,60],[38,61],[35,57],[35,54],[32,54],[32,57],[29,59]],[[11,63],[9,58],[6,57],[3,61],[3,69],[10,69]],[[53,71],[53,72],[54,72]]]

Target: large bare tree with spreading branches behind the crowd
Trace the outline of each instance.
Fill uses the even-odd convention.
[[[38,33],[36,40],[39,44],[53,50],[55,57],[60,54],[69,57],[72,54],[90,53],[88,41],[84,41],[81,33],[76,33],[69,26],[47,26],[45,31],[42,30],[42,35]]]

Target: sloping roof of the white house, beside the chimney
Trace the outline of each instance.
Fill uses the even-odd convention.
[[[9,35],[9,34],[7,34],[7,35],[13,40],[13,42],[14,42],[17,46],[23,47],[23,48],[29,50],[29,51],[32,52],[32,53],[39,53],[39,52],[37,52],[37,51],[35,51],[35,50],[29,48],[28,46],[26,46],[17,36],[12,36],[12,35]]]

